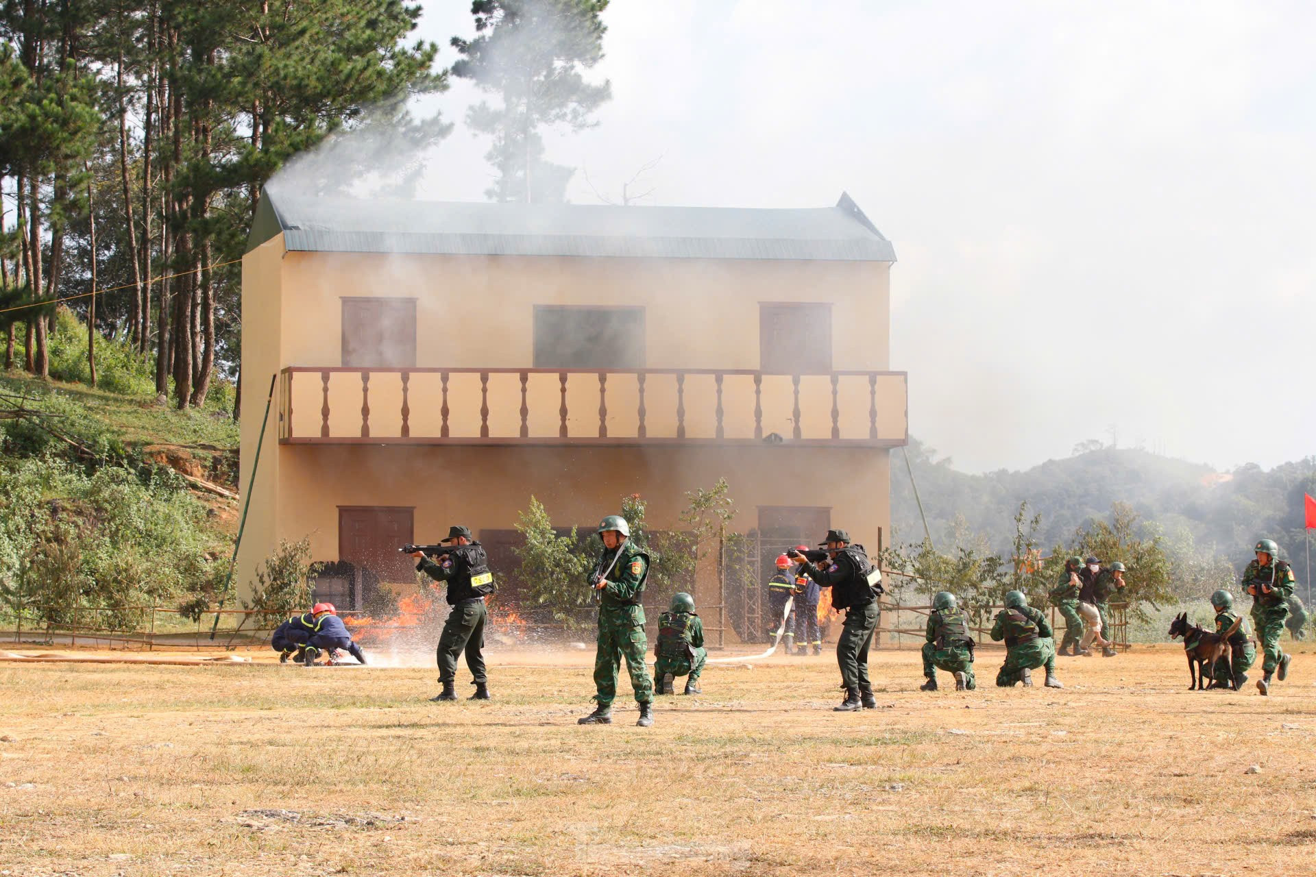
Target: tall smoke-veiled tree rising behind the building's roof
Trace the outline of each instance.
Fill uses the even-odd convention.
[[[544,158],[541,129],[590,128],[609,97],[608,82],[586,82],[583,71],[603,58],[608,0],[475,0],[474,39],[453,37],[462,58],[453,75],[499,96],[480,101],[467,124],[492,137],[486,154],[497,179],[486,191],[494,201],[562,201],[572,168]]]

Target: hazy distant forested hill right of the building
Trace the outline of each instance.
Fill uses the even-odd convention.
[[[967,475],[916,439],[908,451],[938,548],[982,536],[994,551],[1008,551],[1013,515],[1024,501],[1042,515],[1044,546],[1067,543],[1078,527],[1107,518],[1112,504],[1126,502],[1178,551],[1221,556],[1238,569],[1252,559],[1257,539],[1275,539],[1305,580],[1303,493],[1316,496],[1316,458],[1269,471],[1249,464],[1217,472],[1146,451],[1100,448],[1024,472]],[[899,451],[891,456],[891,504],[895,542],[921,540],[923,522]]]

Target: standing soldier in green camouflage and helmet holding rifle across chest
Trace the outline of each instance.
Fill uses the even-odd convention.
[[[654,688],[649,678],[649,640],[645,638],[645,607],[640,604],[649,577],[649,555],[630,542],[630,525],[609,514],[599,525],[603,554],[590,584],[599,594],[599,648],[594,656],[597,706],[580,724],[612,724],[612,701],[617,697],[617,671],[626,659],[630,686],[640,703],[640,727],[654,723]]]

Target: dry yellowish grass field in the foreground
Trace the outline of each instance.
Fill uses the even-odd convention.
[[[862,714],[828,656],[774,659],[647,730],[628,684],[575,724],[580,653],[495,652],[496,699],[445,705],[432,669],[0,664],[0,874],[1309,874],[1296,651],[1270,698],[1190,693],[1177,646],[1059,692],[984,650],[958,694],[880,652]]]

